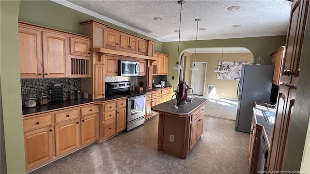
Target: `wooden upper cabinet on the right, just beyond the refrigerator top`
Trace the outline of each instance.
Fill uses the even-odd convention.
[[[280,85],[280,74],[282,72],[282,61],[284,56],[285,46],[279,47],[275,52],[271,54],[271,64],[275,65],[272,82],[276,85]]]

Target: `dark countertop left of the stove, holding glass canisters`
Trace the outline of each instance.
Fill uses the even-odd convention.
[[[62,109],[66,107],[71,107],[71,106],[78,106],[82,104],[90,104],[90,103],[95,103],[95,102],[105,102],[113,99],[118,99],[118,98],[127,98],[126,96],[123,95],[114,95],[114,96],[107,96],[105,98],[100,98],[100,99],[87,99],[87,98],[81,98],[81,99],[74,99],[74,100],[64,100],[63,102],[58,102],[58,103],[47,103],[46,105],[38,105],[32,108],[27,108],[23,106],[23,116],[30,116],[31,114],[34,113],[44,113],[47,111],[52,111],[52,110],[57,110],[57,109]]]

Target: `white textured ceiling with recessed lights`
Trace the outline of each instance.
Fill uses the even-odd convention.
[[[177,0],[53,0],[159,41],[178,40]],[[286,0],[186,0],[182,5],[181,41],[286,35],[290,9]],[[230,6],[240,9],[228,11]],[[82,8],[80,8],[82,7]],[[161,17],[162,20],[154,20]],[[233,28],[233,25],[241,27]]]

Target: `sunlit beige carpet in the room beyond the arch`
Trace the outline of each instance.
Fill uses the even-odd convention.
[[[210,98],[196,95],[195,97],[208,98],[205,105],[205,115],[236,120],[238,101],[224,98]]]

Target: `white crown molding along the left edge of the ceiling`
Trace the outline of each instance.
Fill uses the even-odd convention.
[[[123,28],[128,29],[128,30],[130,30],[130,31],[132,31],[132,32],[137,32],[137,33],[142,34],[142,35],[144,35],[144,36],[151,37],[151,38],[156,39],[156,40],[158,40],[158,41],[160,41],[160,42],[163,42],[163,39],[161,39],[161,38],[159,38],[159,37],[157,37],[157,36],[154,36],[154,35],[149,34],[149,33],[146,33],[146,32],[142,32],[142,31],[140,31],[140,30],[138,30],[138,29],[135,29],[135,28],[133,28],[133,27],[130,27],[130,26],[128,26],[128,25],[125,25],[125,24],[123,24],[123,23],[121,23],[121,22],[118,22],[118,21],[116,21],[116,20],[113,20],[113,19],[111,19],[111,18],[109,18],[109,17],[99,15],[99,14],[97,14],[97,13],[94,13],[94,12],[92,12],[92,11],[90,11],[90,10],[87,10],[87,9],[85,9],[85,8],[82,8],[82,7],[80,7],[80,6],[78,6],[78,5],[75,5],[75,4],[71,3],[71,2],[68,2],[68,1],[66,1],[66,0],[50,0],[50,1],[56,2],[56,3],[58,3],[58,4],[61,4],[61,5],[63,5],[63,6],[66,6],[66,7],[68,7],[68,8],[73,9],[73,10],[76,10],[76,11],[78,11],[78,12],[84,13],[84,14],[86,14],[86,15],[93,16],[93,17],[96,17],[96,18],[98,18],[98,19],[104,20],[104,21],[106,21],[106,22],[109,22],[109,23],[111,23],[111,24],[117,25],[117,26],[119,26],[119,27],[123,27]]]

